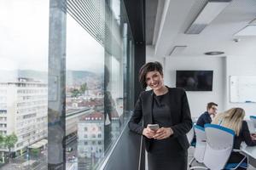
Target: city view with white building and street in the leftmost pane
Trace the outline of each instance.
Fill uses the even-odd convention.
[[[47,75],[12,71],[0,78],[1,169],[47,166]],[[10,72],[9,72],[10,73]],[[35,79],[33,76],[41,74]],[[9,78],[9,80],[4,78]],[[47,167],[46,167],[47,168]]]

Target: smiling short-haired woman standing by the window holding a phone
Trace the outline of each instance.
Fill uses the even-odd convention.
[[[143,88],[152,90],[140,94],[129,127],[144,137],[148,169],[187,169],[189,142],[186,133],[192,127],[192,120],[185,91],[164,85],[159,62],[143,65],[139,79]],[[138,124],[141,120],[143,126]],[[159,124],[160,128],[151,130],[149,124]]]

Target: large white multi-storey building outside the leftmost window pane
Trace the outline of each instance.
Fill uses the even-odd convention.
[[[47,83],[27,78],[0,82],[0,133],[16,134],[13,152],[47,137],[47,100]]]

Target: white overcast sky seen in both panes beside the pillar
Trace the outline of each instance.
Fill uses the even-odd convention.
[[[0,70],[48,70],[49,0],[0,0]],[[99,71],[104,48],[67,15],[67,69]]]

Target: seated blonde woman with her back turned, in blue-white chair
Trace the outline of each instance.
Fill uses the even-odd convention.
[[[223,127],[228,127],[235,131],[236,136],[234,140],[234,149],[239,150],[242,141],[249,146],[255,146],[256,140],[253,140],[253,136],[249,132],[249,128],[247,122],[243,120],[245,116],[245,111],[241,108],[231,108],[224,113],[218,114],[213,121],[212,124],[218,124]],[[242,156],[238,152],[232,152],[228,163],[239,163],[244,156]],[[247,162],[247,159],[244,160]],[[239,167],[238,169],[244,169]]]

